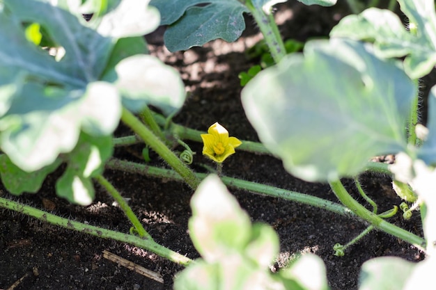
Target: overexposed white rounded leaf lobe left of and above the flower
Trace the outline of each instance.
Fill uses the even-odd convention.
[[[116,79],[123,105],[130,111],[138,112],[146,104],[152,104],[170,115],[185,102],[185,86],[180,74],[154,56],[125,58],[104,79]]]

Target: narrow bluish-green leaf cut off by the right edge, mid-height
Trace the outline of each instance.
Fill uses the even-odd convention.
[[[419,148],[418,157],[428,166],[436,164],[436,86],[433,86],[428,96],[428,136]]]

